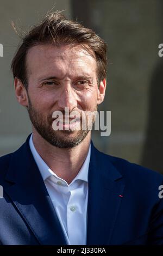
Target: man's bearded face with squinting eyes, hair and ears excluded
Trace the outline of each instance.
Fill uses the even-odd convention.
[[[28,112],[34,129],[56,147],[75,147],[90,131],[72,131],[71,126],[55,131],[52,115],[55,111],[64,115],[65,107],[70,117],[73,111],[81,117],[85,111],[96,111],[102,102],[98,99],[96,59],[82,46],[38,45],[28,51],[26,64]]]

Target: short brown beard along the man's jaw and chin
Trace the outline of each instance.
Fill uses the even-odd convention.
[[[82,130],[82,127],[79,131],[75,130],[63,130],[63,131],[55,131],[53,130],[52,123],[52,114],[48,115],[47,118],[43,118],[41,112],[37,111],[36,108],[32,105],[28,95],[28,114],[30,121],[35,127],[36,131],[39,135],[45,139],[51,145],[57,148],[74,148],[79,145],[87,136],[90,129],[87,125],[86,130]],[[97,109],[97,106],[96,106]],[[63,111],[64,113],[64,111]],[[95,118],[92,120],[92,125],[95,123]],[[74,136],[72,136],[74,135]]]

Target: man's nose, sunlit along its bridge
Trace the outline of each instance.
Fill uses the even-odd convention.
[[[74,92],[73,88],[71,87],[71,84],[66,85],[59,97],[58,100],[58,106],[61,109],[65,109],[65,107],[69,108],[69,111],[71,112],[72,109],[77,107],[77,99],[76,99],[76,93]]]

